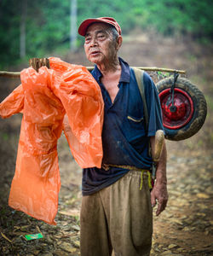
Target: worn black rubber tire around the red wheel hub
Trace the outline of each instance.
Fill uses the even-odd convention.
[[[173,77],[162,79],[156,84],[158,93],[170,88],[173,84]],[[172,130],[164,127],[165,138],[171,141],[181,141],[196,134],[204,125],[207,114],[207,104],[204,94],[197,86],[192,84],[188,79],[178,78],[176,80],[176,88],[185,90],[193,100],[193,117],[188,123],[179,129]]]

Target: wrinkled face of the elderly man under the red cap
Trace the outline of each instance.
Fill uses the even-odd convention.
[[[118,47],[107,24],[94,23],[89,26],[85,35],[84,50],[88,60],[97,65],[114,59]]]

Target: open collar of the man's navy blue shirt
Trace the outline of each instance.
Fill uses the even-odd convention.
[[[130,83],[130,66],[127,62],[125,62],[122,58],[118,58],[121,65],[121,76],[119,83]],[[102,76],[101,71],[95,65],[94,70],[92,71],[93,77],[95,80],[100,83],[100,79]]]

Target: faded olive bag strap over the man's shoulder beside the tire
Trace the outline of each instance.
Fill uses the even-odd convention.
[[[146,96],[145,96],[145,90],[144,90],[144,84],[143,84],[143,73],[144,71],[136,68],[136,67],[132,67],[133,71],[135,73],[135,78],[137,81],[137,85],[138,88],[140,90],[141,93],[141,98],[142,98],[142,102],[143,102],[143,111],[144,111],[144,117],[145,117],[145,124],[146,124],[146,131],[148,131],[148,110],[147,110],[147,101],[146,101]]]

